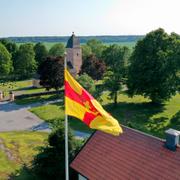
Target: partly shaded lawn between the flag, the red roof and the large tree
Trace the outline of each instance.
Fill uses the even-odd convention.
[[[129,98],[123,94],[118,96],[116,107],[108,100],[107,94],[103,100],[105,109],[121,124],[160,138],[164,138],[164,131],[168,128],[180,130],[180,94],[163,105],[153,105],[142,96]]]

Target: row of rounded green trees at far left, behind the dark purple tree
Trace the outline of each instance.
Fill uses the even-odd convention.
[[[63,56],[65,46],[54,44],[48,51],[43,43],[24,43],[17,46],[7,39],[0,40],[0,79],[32,78],[48,56]]]

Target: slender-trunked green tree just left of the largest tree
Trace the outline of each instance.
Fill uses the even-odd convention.
[[[124,83],[129,49],[116,44],[110,45],[103,51],[102,57],[108,66],[104,76],[104,87],[110,91],[110,97],[116,105],[118,91]]]

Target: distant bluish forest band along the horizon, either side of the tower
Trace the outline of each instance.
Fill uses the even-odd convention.
[[[80,43],[87,43],[91,39],[97,39],[103,43],[120,43],[120,42],[137,42],[144,36],[127,35],[127,36],[79,36]],[[38,43],[38,42],[61,42],[66,43],[69,36],[45,36],[45,37],[8,37],[7,40],[16,43]]]

